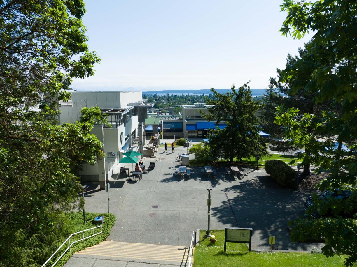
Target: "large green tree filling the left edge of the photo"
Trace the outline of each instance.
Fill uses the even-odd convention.
[[[76,166],[102,144],[91,123],[56,125],[72,78],[94,74],[83,1],[0,1],[0,255],[2,266],[37,266],[66,234]]]

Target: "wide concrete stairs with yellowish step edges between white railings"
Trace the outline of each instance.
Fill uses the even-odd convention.
[[[188,266],[189,251],[189,247],[182,246],[102,241],[72,257]]]

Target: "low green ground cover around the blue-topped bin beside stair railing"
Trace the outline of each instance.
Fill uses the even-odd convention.
[[[104,223],[103,223],[103,232],[99,235],[96,235],[94,237],[90,237],[88,239],[86,239],[83,243],[83,241],[77,242],[75,244],[73,244],[71,246],[71,252],[72,254],[74,252],[80,251],[86,247],[91,247],[94,246],[98,243],[100,243],[103,240],[106,240],[106,238],[109,236],[110,234],[110,229],[111,227],[114,226],[115,224],[115,215],[111,214],[111,213],[93,213],[93,212],[86,212],[86,224],[83,224],[83,211],[79,211],[79,212],[70,212],[67,214],[68,216],[68,224],[69,224],[69,228],[71,229],[71,233],[76,233],[82,230],[86,230],[92,227],[95,227],[96,225],[92,224],[92,221],[95,217],[97,216],[103,216],[104,217]],[[95,229],[95,233],[100,232],[100,227]],[[93,230],[90,231],[86,231],[84,233],[84,237],[86,236],[90,236],[93,235]],[[83,238],[82,237],[82,233],[77,234],[75,236],[71,237],[71,243],[73,241],[79,240]],[[63,240],[62,242],[64,242],[65,240]],[[49,261],[46,266],[51,266],[56,260],[57,258],[62,254],[63,251],[66,250],[66,248],[68,247],[68,243],[66,243],[59,252],[56,253],[56,255],[52,258],[53,261]],[[61,267],[63,266],[71,257],[71,253],[69,252],[69,250],[65,253],[65,255],[63,255],[63,257],[61,258],[61,260],[59,260],[59,262],[56,263],[56,267]]]

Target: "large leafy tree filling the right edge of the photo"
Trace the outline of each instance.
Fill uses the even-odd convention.
[[[322,253],[327,257],[336,253],[347,255],[345,264],[351,266],[357,261],[357,215],[346,218],[343,214],[357,208],[357,39],[352,34],[357,25],[357,3],[350,0],[285,0],[281,7],[288,12],[281,28],[284,35],[301,38],[312,31],[314,36],[305,46],[303,55],[281,71],[280,81],[290,84],[292,94],[302,89],[305,95],[312,97],[314,104],[326,103],[326,106],[321,116],[305,112],[300,118],[297,116],[299,109],[280,107],[277,123],[286,125],[293,139],[303,140],[311,152],[308,160],[318,166],[318,173],[324,169],[330,171],[330,176],[321,181],[318,188],[352,192],[347,200],[320,200],[315,196],[315,204],[307,214],[319,212],[326,216],[331,211],[332,217],[312,219],[307,215],[290,222],[295,226],[292,240],[303,241],[309,235],[323,236]],[[322,135],[324,140],[319,142],[306,127]],[[338,148],[331,149],[336,140]],[[343,142],[352,144],[350,151],[341,149]]]

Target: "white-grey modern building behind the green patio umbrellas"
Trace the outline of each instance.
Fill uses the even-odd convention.
[[[82,181],[99,181],[104,188],[105,181],[118,166],[122,154],[136,150],[144,154],[145,119],[147,108],[141,91],[75,91],[71,98],[60,102],[59,123],[75,122],[81,116],[84,107],[99,107],[108,115],[107,125],[94,125],[92,133],[103,143],[105,158],[98,159],[97,164],[84,164],[80,171]],[[139,137],[139,138],[138,138]]]

